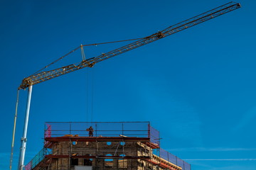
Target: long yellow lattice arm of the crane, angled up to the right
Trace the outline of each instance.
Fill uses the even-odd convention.
[[[207,11],[205,13],[201,13],[198,16],[194,16],[193,18],[189,18],[186,21],[182,21],[181,23],[177,23],[174,26],[170,26],[164,30],[159,31],[158,33],[154,33],[145,38],[142,38],[141,40],[137,40],[128,45],[124,45],[123,47],[119,47],[116,50],[112,50],[110,52],[103,53],[102,55],[99,55],[97,57],[92,57],[88,60],[82,60],[82,62],[80,62],[78,64],[70,64],[68,66],[60,67],[58,69],[53,69],[53,70],[50,70],[47,72],[40,72],[38,74],[33,74],[30,77],[23,79],[23,81],[22,81],[21,85],[18,87],[18,89],[26,89],[28,86],[31,86],[34,84],[39,84],[43,81],[53,79],[55,77],[59,77],[63,74],[68,74],[70,72],[74,72],[78,69],[82,69],[85,67],[93,67],[93,65],[96,64],[97,62],[107,60],[107,59],[117,56],[117,55],[121,55],[124,52],[133,50],[137,47],[141,47],[146,44],[149,44],[150,42],[154,42],[161,38],[165,38],[166,36],[172,35],[174,33],[178,33],[181,30],[191,28],[192,26],[196,26],[199,23],[203,23],[212,18],[216,18],[217,16],[221,16],[225,13],[228,13],[228,12],[233,11],[240,7],[241,7],[240,4],[235,3],[235,2],[230,2],[228,4],[224,4],[223,6],[219,6],[210,11]],[[82,46],[83,45],[81,45],[81,47]],[[78,49],[78,48],[76,48],[76,49]]]

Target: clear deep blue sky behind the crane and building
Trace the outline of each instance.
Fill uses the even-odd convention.
[[[81,43],[143,38],[228,2],[1,1],[0,169],[9,168],[24,77]],[[43,147],[47,121],[151,121],[161,147],[192,169],[255,170],[256,1],[238,2],[224,16],[33,86],[26,163]],[[85,55],[125,44],[85,47]],[[80,60],[74,54],[60,65]],[[14,167],[26,96],[20,92]]]

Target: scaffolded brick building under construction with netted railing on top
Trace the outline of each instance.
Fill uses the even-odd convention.
[[[25,169],[191,169],[159,139],[149,122],[46,123],[44,147]]]

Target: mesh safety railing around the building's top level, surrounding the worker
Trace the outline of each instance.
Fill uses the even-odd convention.
[[[48,122],[44,137],[149,137],[159,145],[159,131],[149,122]]]

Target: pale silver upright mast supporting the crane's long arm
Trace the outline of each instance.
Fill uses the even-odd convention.
[[[26,116],[25,116],[25,123],[23,128],[23,137],[21,137],[21,152],[19,156],[18,161],[18,170],[23,170],[24,166],[24,158],[25,158],[25,152],[26,152],[26,135],[28,131],[28,117],[29,117],[29,110],[30,110],[30,104],[31,104],[31,94],[32,94],[32,85],[28,86],[28,101],[27,101],[27,107],[26,107]]]

